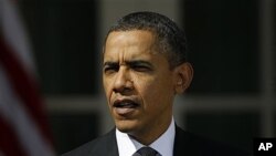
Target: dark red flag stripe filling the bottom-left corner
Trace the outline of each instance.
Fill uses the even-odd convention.
[[[6,156],[26,156],[13,128],[0,115],[0,152]]]

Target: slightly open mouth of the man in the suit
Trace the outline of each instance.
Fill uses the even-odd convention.
[[[132,100],[117,100],[113,106],[118,115],[127,115],[135,112],[139,104]]]

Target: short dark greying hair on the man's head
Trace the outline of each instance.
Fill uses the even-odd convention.
[[[157,45],[166,54],[170,69],[187,62],[187,41],[184,32],[176,22],[166,15],[156,12],[142,11],[127,14],[109,29],[108,34],[114,31],[146,30],[152,32],[157,38]]]

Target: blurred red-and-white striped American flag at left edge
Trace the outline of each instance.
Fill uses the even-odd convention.
[[[17,0],[0,0],[0,156],[54,156]]]

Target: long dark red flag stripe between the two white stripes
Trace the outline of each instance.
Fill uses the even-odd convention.
[[[34,75],[25,71],[23,64],[19,61],[17,55],[6,44],[3,38],[0,35],[0,62],[6,70],[7,77],[11,82],[14,93],[24,104],[28,113],[35,122],[45,141],[53,143],[49,131],[49,124],[45,117],[42,98],[38,93],[36,81]]]

